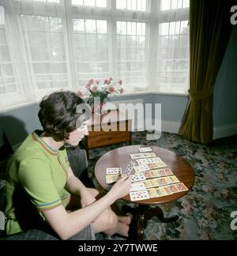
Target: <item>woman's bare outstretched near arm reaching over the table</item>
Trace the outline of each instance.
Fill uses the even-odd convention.
[[[89,224],[92,224],[117,199],[126,196],[130,191],[130,184],[131,178],[126,179],[124,177],[115,183],[103,198],[100,198],[100,200],[95,201],[83,209],[78,209],[73,213],[67,213],[66,209],[60,205],[55,209],[44,211],[43,215],[61,239],[69,239]]]

